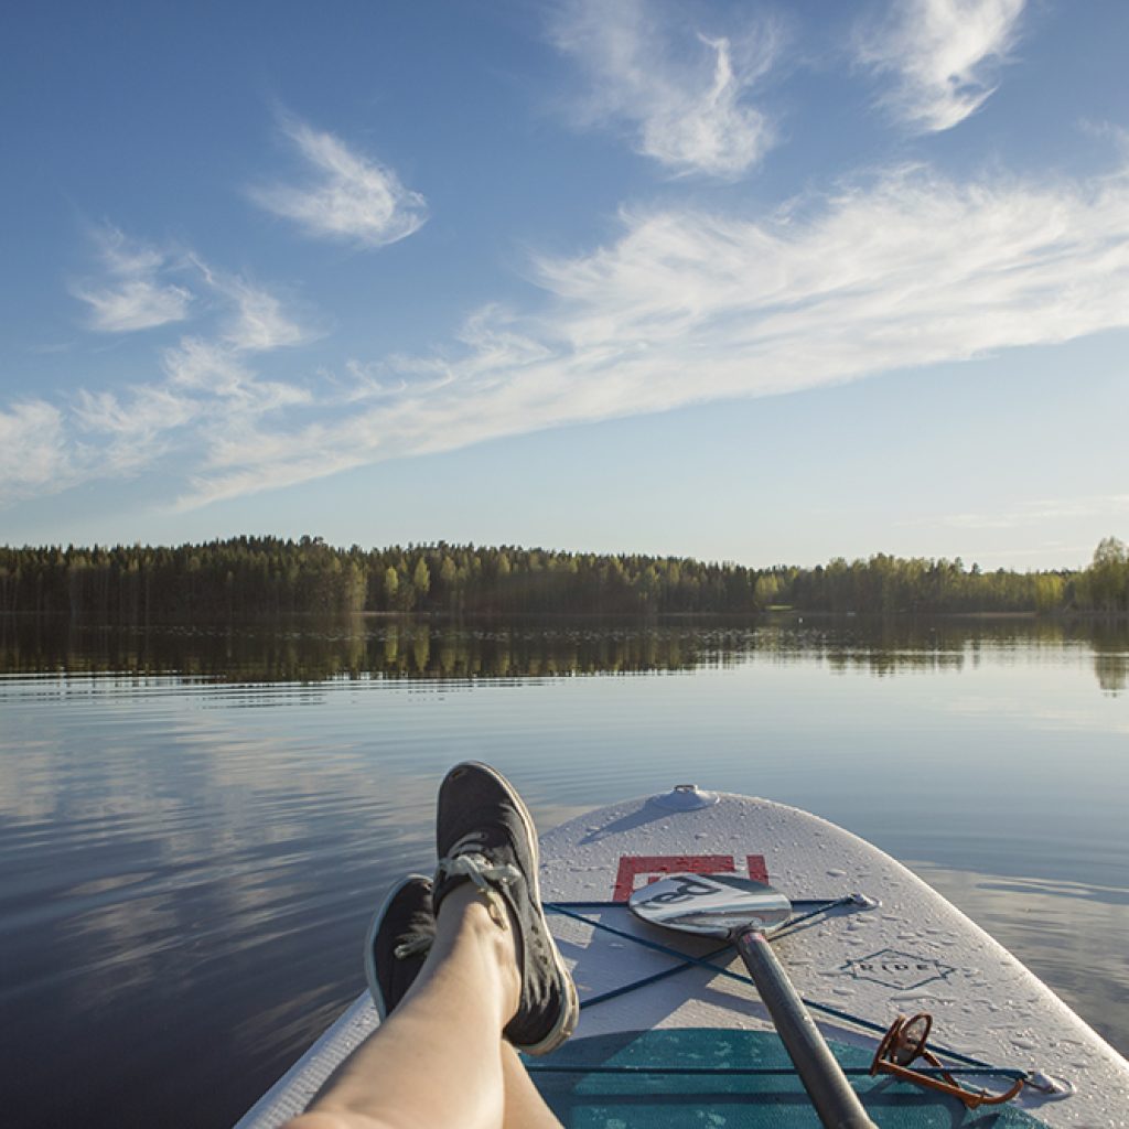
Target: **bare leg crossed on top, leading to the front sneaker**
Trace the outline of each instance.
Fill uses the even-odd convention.
[[[513,931],[470,883],[452,891],[415,982],[288,1129],[501,1129],[507,1079],[533,1089],[501,1039],[519,994]]]

